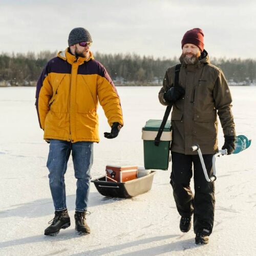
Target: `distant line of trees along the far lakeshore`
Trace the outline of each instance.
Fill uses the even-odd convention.
[[[42,51],[39,54],[0,55],[0,86],[32,86],[35,85],[46,63],[57,52]],[[101,54],[94,57],[108,70],[118,85],[151,85],[161,84],[166,69],[179,62],[177,57],[153,58],[136,54]],[[211,63],[220,67],[230,85],[256,84],[255,59],[212,58]]]

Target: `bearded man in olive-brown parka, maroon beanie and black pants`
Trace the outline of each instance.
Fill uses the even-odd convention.
[[[167,69],[159,101],[173,104],[172,174],[170,184],[181,215],[180,229],[188,232],[194,214],[196,244],[208,243],[214,225],[214,183],[207,182],[193,144],[200,146],[208,175],[212,174],[212,156],[218,152],[219,116],[228,155],[234,151],[236,132],[231,112],[231,94],[222,71],[210,64],[204,50],[204,34],[199,28],[188,30],[181,41],[182,55],[179,86],[174,87],[175,67]],[[189,183],[194,166],[195,195]]]

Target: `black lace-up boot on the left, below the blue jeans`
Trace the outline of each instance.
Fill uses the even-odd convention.
[[[56,236],[61,228],[65,229],[70,226],[70,218],[68,210],[55,210],[54,218],[48,222],[51,224],[46,230],[46,236]]]

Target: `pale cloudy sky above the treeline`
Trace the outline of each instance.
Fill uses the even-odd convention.
[[[255,0],[0,0],[0,52],[64,50],[68,35],[84,27],[92,52],[180,56],[181,39],[204,31],[214,57],[256,58]]]

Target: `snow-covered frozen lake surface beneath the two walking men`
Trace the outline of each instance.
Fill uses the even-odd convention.
[[[124,127],[116,139],[101,107],[99,144],[94,144],[92,177],[106,164],[143,166],[141,128],[161,119],[160,87],[118,87]],[[105,198],[91,184],[91,234],[74,230],[76,180],[70,159],[66,174],[71,227],[44,236],[54,208],[34,106],[35,88],[0,88],[0,255],[255,255],[256,240],[256,87],[230,87],[237,134],[252,139],[248,150],[217,159],[215,227],[205,246],[179,230],[180,217],[169,185],[170,168],[159,170],[152,189],[132,199]],[[223,144],[220,127],[219,145]],[[193,184],[191,184],[193,186]]]

